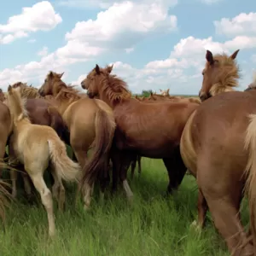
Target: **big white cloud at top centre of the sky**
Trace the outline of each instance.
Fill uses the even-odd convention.
[[[156,32],[177,29],[177,17],[168,15],[166,6],[165,1],[113,3],[107,10],[98,13],[96,20],[78,22],[71,32],[67,32],[66,39],[99,47],[131,48]]]

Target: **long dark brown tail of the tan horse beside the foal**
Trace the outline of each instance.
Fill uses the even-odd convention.
[[[85,184],[91,187],[97,177],[108,176],[108,157],[112,147],[115,122],[110,113],[103,110],[99,104],[97,105],[100,109],[97,110],[95,119],[96,137],[92,143],[94,153],[84,165],[81,188],[84,188]]]

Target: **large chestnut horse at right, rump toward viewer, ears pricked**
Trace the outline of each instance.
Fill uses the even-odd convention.
[[[256,113],[256,92],[231,91],[240,77],[237,53],[238,50],[230,56],[213,56],[207,50],[200,90],[201,100],[207,101],[185,125],[181,154],[199,187],[198,222],[193,224],[203,228],[209,207],[214,224],[233,255],[256,255],[256,118],[255,114],[249,116]],[[239,213],[246,182],[254,247],[247,242]]]

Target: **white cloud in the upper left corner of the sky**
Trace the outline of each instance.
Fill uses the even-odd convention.
[[[31,32],[49,31],[61,21],[61,15],[55,13],[51,3],[35,3],[23,8],[20,15],[9,17],[7,24],[0,24],[0,44],[10,44],[17,38],[28,37]]]

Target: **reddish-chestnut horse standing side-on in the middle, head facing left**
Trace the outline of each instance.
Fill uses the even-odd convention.
[[[174,102],[139,102],[131,97],[122,79],[110,74],[113,67],[98,65],[81,83],[90,97],[99,96],[113,108],[117,129],[113,140],[113,189],[123,182],[128,198],[132,192],[126,181],[126,166],[134,155],[163,159],[169,174],[168,192],[177,189],[186,167],[179,153],[183,127],[198,104]]]

